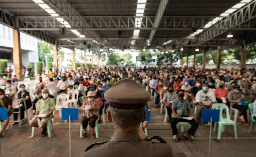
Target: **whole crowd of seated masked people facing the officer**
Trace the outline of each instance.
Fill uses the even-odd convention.
[[[52,106],[53,98],[56,98],[58,94],[66,94],[69,90],[77,90],[79,93],[78,106],[82,106],[81,110],[86,112],[83,114],[83,121],[81,123],[84,130],[84,138],[87,134],[87,123],[89,122],[89,125],[94,128],[95,121],[98,119],[98,122],[101,123],[102,113],[106,113],[109,104],[104,98],[104,93],[122,78],[131,78],[141,83],[151,94],[156,94],[155,107],[159,108],[162,103],[167,109],[173,134],[177,135],[176,142],[179,141],[180,136],[175,126],[181,121],[181,117],[191,116],[191,108],[196,108],[195,118],[187,121],[191,123],[192,129],[183,135],[189,141],[192,141],[191,136],[195,134],[198,125],[201,124],[202,109],[212,109],[214,103],[224,103],[234,109],[238,109],[241,112],[239,121],[244,126],[249,126],[246,113],[248,106],[242,106],[241,99],[246,98],[250,103],[255,101],[255,69],[228,71],[187,67],[182,69],[180,67],[170,66],[145,68],[105,66],[91,69],[80,68],[75,71],[60,70],[59,72],[53,72],[50,69],[48,73],[42,72],[38,81],[33,85],[35,87],[35,91],[33,92],[25,87],[24,84],[18,86],[15,77],[7,79],[6,76],[3,76],[0,79],[0,85],[3,87],[2,92],[0,91],[0,96],[3,95],[1,96],[2,98],[0,97],[0,100],[4,99],[4,104],[1,106],[7,107],[8,114],[11,114],[13,108],[10,102],[14,101],[23,105],[20,107],[20,117],[14,114],[14,120],[17,120],[19,118],[24,119],[24,102],[26,103],[26,108],[30,108],[33,104],[34,114],[47,114],[45,119],[48,121],[49,118],[53,117],[53,113],[51,112],[54,109]],[[15,97],[15,94],[17,94],[17,97]],[[35,100],[30,99],[31,94],[35,95]],[[86,96],[86,101],[80,101],[79,98],[82,96]],[[49,108],[39,107],[44,106],[43,104],[45,103],[51,104],[48,105]],[[84,108],[85,105],[92,106],[92,117],[85,117],[88,115],[88,110]],[[183,110],[181,114],[177,113],[176,111],[180,108],[184,108],[186,111]],[[35,118],[37,117],[35,116],[30,121],[31,126],[37,126]],[[42,136],[45,136],[47,132],[45,129],[46,120],[44,127],[42,127]],[[24,123],[23,121],[21,124]],[[16,124],[12,123],[12,125]],[[209,126],[210,124],[205,123],[205,125]],[[95,138],[93,129],[92,138]]]

